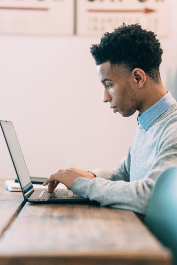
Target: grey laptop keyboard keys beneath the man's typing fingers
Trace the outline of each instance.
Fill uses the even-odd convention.
[[[54,190],[53,193],[48,193],[48,191],[41,191],[38,198],[80,198],[78,195],[74,194],[72,191],[68,191],[68,189],[58,189]]]

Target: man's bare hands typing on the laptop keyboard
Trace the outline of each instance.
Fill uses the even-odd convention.
[[[75,169],[74,167],[70,167],[70,169],[58,170],[55,174],[51,175],[50,178],[48,178],[43,183],[43,185],[45,186],[48,184],[49,193],[52,193],[60,182],[64,184],[68,189],[71,189],[71,185],[73,181],[80,176],[83,176],[89,179],[94,178],[94,175],[90,172],[87,172],[81,169]]]

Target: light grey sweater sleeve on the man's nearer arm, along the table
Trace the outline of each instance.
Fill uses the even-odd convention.
[[[72,183],[72,191],[81,197],[99,202],[101,206],[109,205],[145,214],[157,175],[168,167],[177,166],[177,135],[175,129],[169,126],[162,135],[158,155],[143,179],[132,182],[125,180],[112,181],[114,175],[117,179],[122,179],[128,174],[129,169],[127,170],[126,166],[122,166],[121,170],[120,166],[118,169],[110,171],[111,173],[108,172],[110,179],[100,177],[92,180],[84,177],[76,178]],[[125,161],[123,165],[126,165],[127,162]],[[124,170],[126,170],[125,175]]]

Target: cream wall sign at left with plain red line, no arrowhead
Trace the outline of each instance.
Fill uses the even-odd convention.
[[[74,0],[0,0],[0,33],[73,34]]]

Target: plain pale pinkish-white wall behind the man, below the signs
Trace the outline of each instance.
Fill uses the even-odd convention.
[[[177,1],[171,32],[160,39],[161,78],[177,98]],[[135,113],[123,118],[102,102],[103,87],[89,53],[100,38],[0,36],[0,119],[12,121],[33,176],[58,169],[111,169],[126,155],[137,127]],[[0,179],[15,171],[0,131]]]

